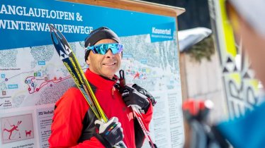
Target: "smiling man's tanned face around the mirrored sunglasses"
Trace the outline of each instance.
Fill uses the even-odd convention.
[[[116,43],[113,39],[101,39],[96,44],[109,44]],[[95,45],[96,45],[95,44]],[[102,75],[106,78],[113,78],[113,75],[119,70],[121,63],[121,53],[113,54],[111,50],[108,50],[105,55],[94,54],[90,51],[86,60],[89,64],[89,70],[98,75]]]

